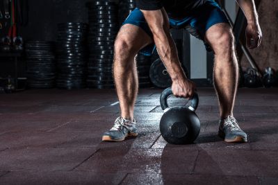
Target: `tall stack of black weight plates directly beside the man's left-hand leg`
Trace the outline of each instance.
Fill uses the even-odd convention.
[[[114,88],[112,65],[114,42],[119,29],[117,4],[108,0],[87,3],[89,13],[87,85],[90,88]]]

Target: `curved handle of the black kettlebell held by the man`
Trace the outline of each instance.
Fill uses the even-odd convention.
[[[162,94],[161,94],[161,108],[163,109],[164,112],[167,112],[168,109],[170,109],[168,103],[167,103],[167,98],[173,94],[172,88],[168,87],[165,89]],[[191,100],[191,105],[188,107],[188,109],[192,110],[195,112],[199,105],[199,96],[197,93],[194,93],[193,98]]]

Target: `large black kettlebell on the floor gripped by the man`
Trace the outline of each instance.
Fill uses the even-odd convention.
[[[161,94],[161,135],[168,143],[181,145],[193,143],[200,131],[200,122],[195,110],[199,104],[198,94],[194,94],[190,107],[169,107],[167,98],[173,94],[169,87]]]

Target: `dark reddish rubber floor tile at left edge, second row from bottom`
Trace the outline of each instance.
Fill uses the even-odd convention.
[[[72,170],[92,156],[96,148],[23,148],[0,152],[3,170]]]

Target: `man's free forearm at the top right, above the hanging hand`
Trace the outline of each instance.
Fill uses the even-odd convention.
[[[258,14],[254,0],[236,0],[238,6],[243,10],[248,24],[259,24]]]

